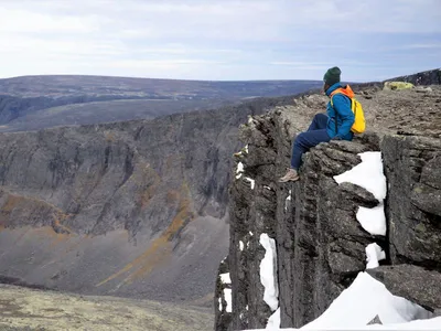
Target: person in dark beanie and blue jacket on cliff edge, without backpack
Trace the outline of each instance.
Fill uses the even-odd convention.
[[[299,168],[302,162],[302,156],[310,148],[321,142],[330,140],[348,140],[351,141],[354,134],[351,127],[354,124],[354,113],[351,110],[351,99],[344,94],[332,95],[337,88],[342,88],[340,83],[341,70],[336,66],[330,68],[324,74],[324,92],[333,102],[327,103],[326,114],[316,114],[308,131],[297,136],[292,146],[291,168],[288,169],[286,175],[279,179],[280,183],[299,180]],[[337,118],[335,125],[335,117]]]

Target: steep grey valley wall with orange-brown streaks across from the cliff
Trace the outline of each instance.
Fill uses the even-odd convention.
[[[0,275],[211,303],[238,125],[291,100],[0,135]]]

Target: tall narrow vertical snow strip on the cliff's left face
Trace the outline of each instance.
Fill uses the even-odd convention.
[[[265,257],[260,263],[260,282],[265,287],[263,301],[275,311],[279,307],[279,286],[276,276],[276,242],[266,233],[262,233],[260,235],[260,245],[266,250]]]

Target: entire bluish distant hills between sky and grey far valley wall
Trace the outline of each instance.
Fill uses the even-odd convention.
[[[203,82],[105,76],[0,79],[0,131],[152,119],[255,97],[293,95],[319,81]]]

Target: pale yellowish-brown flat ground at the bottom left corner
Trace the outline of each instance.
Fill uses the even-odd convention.
[[[1,331],[211,330],[211,309],[0,285]]]

